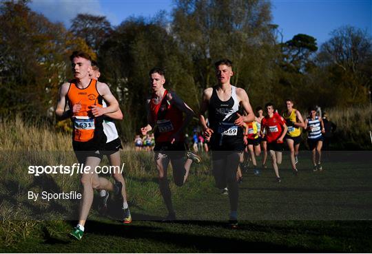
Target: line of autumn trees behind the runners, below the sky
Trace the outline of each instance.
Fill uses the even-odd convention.
[[[262,0],[177,0],[171,14],[131,17],[113,27],[106,17],[78,14],[71,28],[32,12],[28,1],[0,3],[0,115],[53,117],[59,85],[71,77],[73,50],[92,54],[125,114],[124,138],[145,123],[147,73],[164,67],[167,87],[194,110],[203,89],[216,82],[214,62],[234,63],[233,85],[246,89],[253,107],[350,107],[369,103],[372,41],[363,30],[337,28],[331,39],[297,34],[282,41]]]

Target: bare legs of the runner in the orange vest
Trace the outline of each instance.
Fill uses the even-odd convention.
[[[93,189],[105,189],[107,191],[114,190],[114,184],[112,184],[112,182],[106,178],[99,178],[98,174],[96,173],[96,166],[98,166],[100,162],[101,159],[96,157],[87,157],[85,160],[84,167],[87,168],[89,166],[90,171],[83,173],[80,180],[83,188],[79,214],[79,224],[81,224],[81,226],[85,225],[90,207],[92,207]]]

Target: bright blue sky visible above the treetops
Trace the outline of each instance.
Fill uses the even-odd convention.
[[[273,23],[279,25],[283,41],[302,33],[314,36],[318,45],[342,25],[353,25],[372,34],[372,0],[272,0]],[[32,10],[51,21],[70,26],[79,12],[106,16],[112,25],[127,17],[152,17],[160,10],[170,12],[172,0],[34,0]]]

